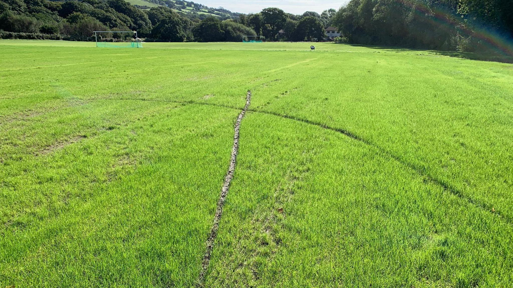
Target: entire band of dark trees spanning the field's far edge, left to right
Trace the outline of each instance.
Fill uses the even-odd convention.
[[[458,51],[490,51],[497,39],[513,36],[513,0],[351,0],[338,11],[302,15],[279,8],[247,15],[216,9],[232,18],[186,15],[168,7],[205,8],[193,2],[158,2],[166,6],[143,10],[124,0],[0,0],[0,30],[10,33],[7,37],[69,40],[91,40],[94,30],[136,30],[147,41],[239,42],[243,35],[320,40],[325,27],[333,26],[342,33],[339,42]]]

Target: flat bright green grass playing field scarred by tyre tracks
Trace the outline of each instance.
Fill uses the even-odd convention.
[[[0,40],[0,287],[511,287],[513,65],[309,46]]]

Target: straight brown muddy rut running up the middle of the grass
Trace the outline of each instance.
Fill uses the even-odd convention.
[[[210,230],[210,235],[207,238],[205,254],[203,256],[203,260],[201,262],[201,271],[198,276],[198,285],[200,287],[204,286],[205,276],[208,270],[208,265],[210,264],[210,256],[212,254],[212,249],[214,246],[215,237],[218,234],[219,223],[221,221],[221,216],[223,214],[223,206],[226,200],[226,196],[228,195],[228,190],[230,188],[231,179],[233,178],[233,172],[235,171],[235,163],[237,160],[237,154],[239,154],[239,130],[241,127],[241,121],[246,114],[246,111],[249,108],[251,102],[251,91],[248,91],[246,96],[246,105],[242,109],[241,113],[237,117],[235,121],[235,133],[233,135],[233,147],[231,149],[231,158],[230,165],[228,167],[228,171],[226,172],[225,180],[223,183],[223,188],[221,189],[221,195],[219,196],[217,208],[215,209],[214,221],[212,224],[212,228]]]

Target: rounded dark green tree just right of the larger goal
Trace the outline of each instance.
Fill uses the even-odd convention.
[[[157,25],[151,30],[151,36],[169,42],[184,42],[186,27],[183,19],[176,13],[167,13],[159,19]]]

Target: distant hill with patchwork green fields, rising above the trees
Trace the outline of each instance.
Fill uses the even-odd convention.
[[[212,8],[192,1],[175,0],[125,0],[128,3],[141,8],[150,9],[151,7],[169,7],[173,11],[183,14],[188,18],[205,18],[207,16],[220,17],[222,19],[236,18],[240,13],[234,13],[224,8]]]

